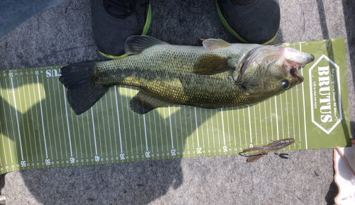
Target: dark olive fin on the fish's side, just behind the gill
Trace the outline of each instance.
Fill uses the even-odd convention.
[[[200,60],[194,65],[195,74],[217,74],[233,69],[228,64],[229,57],[216,54],[207,54],[200,57]]]

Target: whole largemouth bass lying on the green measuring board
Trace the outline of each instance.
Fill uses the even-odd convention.
[[[293,48],[219,38],[203,39],[202,45],[132,35],[124,45],[127,57],[67,65],[60,82],[77,115],[114,85],[139,89],[129,103],[139,114],[173,105],[218,109],[256,104],[295,87],[304,80],[299,67],[315,59]]]

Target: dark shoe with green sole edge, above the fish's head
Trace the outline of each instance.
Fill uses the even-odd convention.
[[[278,0],[217,0],[216,5],[224,26],[242,43],[275,40],[280,27]]]

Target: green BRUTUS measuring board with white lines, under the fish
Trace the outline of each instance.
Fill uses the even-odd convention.
[[[0,174],[13,170],[238,154],[270,140],[285,150],[351,145],[344,39],[284,44],[315,55],[305,81],[253,106],[169,106],[133,113],[133,87],[111,87],[77,116],[60,68],[0,71]]]

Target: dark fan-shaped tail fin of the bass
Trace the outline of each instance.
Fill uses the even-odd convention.
[[[96,64],[82,62],[60,69],[59,80],[67,88],[67,99],[77,115],[90,109],[109,89],[93,76]]]

